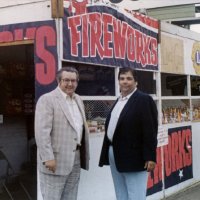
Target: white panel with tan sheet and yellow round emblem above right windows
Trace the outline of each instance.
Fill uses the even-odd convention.
[[[161,33],[161,72],[200,75],[198,39]]]

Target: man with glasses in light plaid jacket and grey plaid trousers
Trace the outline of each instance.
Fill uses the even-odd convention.
[[[35,112],[40,187],[44,200],[76,200],[80,169],[89,167],[84,105],[75,93],[78,71],[57,72],[58,87],[41,96]]]

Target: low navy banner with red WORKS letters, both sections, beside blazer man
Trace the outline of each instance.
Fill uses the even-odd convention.
[[[162,162],[163,156],[163,162]],[[162,170],[164,169],[164,174]],[[191,126],[168,129],[168,144],[157,148],[157,164],[149,173],[147,195],[193,178]],[[164,184],[163,184],[164,183]]]

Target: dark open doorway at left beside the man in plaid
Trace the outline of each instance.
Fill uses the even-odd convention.
[[[0,199],[37,199],[33,44],[0,46]]]

